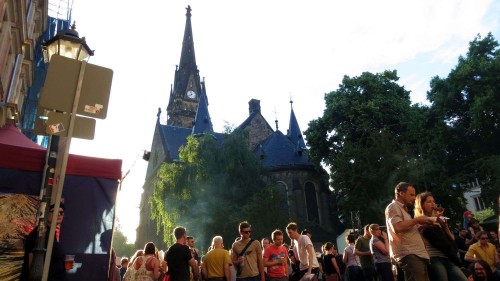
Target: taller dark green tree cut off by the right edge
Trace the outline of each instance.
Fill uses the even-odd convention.
[[[434,77],[428,99],[447,135],[443,165],[456,185],[482,182],[482,197],[498,199],[500,163],[500,50],[488,34],[470,42],[446,78]]]

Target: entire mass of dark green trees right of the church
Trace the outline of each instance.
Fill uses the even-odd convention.
[[[323,116],[305,132],[310,156],[330,168],[343,222],[383,223],[397,182],[431,191],[459,220],[462,184],[482,183],[492,206],[500,189],[500,50],[491,34],[470,43],[448,77],[434,77],[430,107],[411,105],[396,71],[345,76],[325,95]],[[495,206],[498,207],[498,206]]]

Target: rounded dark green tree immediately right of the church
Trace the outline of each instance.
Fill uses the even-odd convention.
[[[362,224],[383,223],[393,186],[409,161],[408,128],[413,126],[410,95],[396,71],[345,76],[325,96],[323,116],[305,134],[310,155],[330,168],[340,215],[349,225],[359,212]],[[406,179],[404,179],[406,180]]]

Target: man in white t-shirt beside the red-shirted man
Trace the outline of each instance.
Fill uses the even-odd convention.
[[[294,240],[294,247],[299,256],[300,278],[302,278],[305,274],[309,275],[311,273],[318,277],[319,263],[309,236],[301,235],[297,224],[294,222],[291,222],[286,226],[286,232],[288,233],[288,237]]]

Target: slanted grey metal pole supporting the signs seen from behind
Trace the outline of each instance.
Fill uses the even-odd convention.
[[[71,145],[71,138],[73,136],[73,129],[76,120],[76,111],[78,108],[78,103],[80,101],[80,92],[82,90],[83,75],[85,73],[85,67],[87,62],[82,61],[80,66],[80,73],[78,76],[78,82],[76,85],[75,99],[73,101],[73,108],[71,110],[71,115],[69,119],[68,135],[66,137],[60,137],[58,142],[59,153],[57,153],[56,168],[54,172],[54,179],[56,181],[55,188],[52,189],[52,202],[54,204],[54,210],[58,211],[61,203],[62,191],[64,186],[64,178],[66,176],[66,166],[68,164],[69,147]],[[42,281],[47,281],[50,267],[50,260],[52,257],[52,247],[54,245],[54,237],[56,233],[56,223],[57,219],[52,219],[50,224],[49,239],[47,244],[47,253],[45,255],[45,263],[43,267]]]

